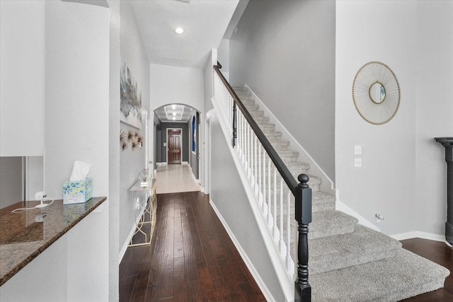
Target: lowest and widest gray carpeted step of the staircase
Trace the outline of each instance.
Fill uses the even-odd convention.
[[[400,301],[440,289],[448,275],[445,267],[401,248],[396,257],[311,275],[311,301]]]

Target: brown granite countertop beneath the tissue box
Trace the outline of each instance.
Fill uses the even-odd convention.
[[[83,204],[63,204],[62,200],[55,200],[48,207],[18,213],[11,211],[33,208],[40,202],[18,202],[0,209],[0,286],[105,199],[106,197],[93,197]]]

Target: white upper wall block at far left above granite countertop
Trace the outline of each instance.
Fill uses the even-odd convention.
[[[0,1],[0,66],[0,156],[42,156],[45,1]]]

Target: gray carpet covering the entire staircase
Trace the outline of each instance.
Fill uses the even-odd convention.
[[[311,301],[394,302],[444,286],[448,269],[404,250],[398,240],[357,224],[354,217],[336,211],[335,197],[320,192],[321,179],[309,174],[308,164],[299,162],[299,153],[291,149],[280,132],[275,132],[275,124],[270,124],[269,117],[265,117],[246,88],[234,88],[234,91],[294,178],[301,173],[310,177],[313,191],[313,216],[309,225]],[[294,202],[290,207],[293,213]],[[276,217],[280,219],[280,214]],[[297,230],[295,221],[292,235],[294,230]],[[291,251],[296,260],[294,242]]]

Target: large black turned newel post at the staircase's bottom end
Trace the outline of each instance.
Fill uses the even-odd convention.
[[[307,184],[309,176],[301,174],[296,187],[296,220],[298,223],[299,244],[297,245],[297,279],[294,282],[294,301],[311,301],[309,284],[309,223],[311,223],[311,188]]]

